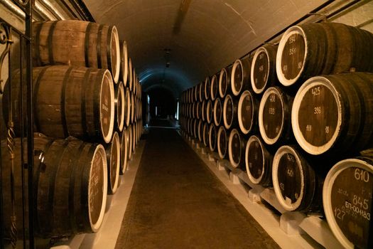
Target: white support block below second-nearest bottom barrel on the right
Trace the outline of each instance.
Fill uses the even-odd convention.
[[[299,226],[301,221],[306,216],[303,213],[299,212],[287,212],[283,213],[280,217],[280,228],[284,231],[287,235],[300,235],[303,234],[304,231]]]

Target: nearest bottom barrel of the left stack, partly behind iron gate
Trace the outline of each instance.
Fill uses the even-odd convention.
[[[14,186],[16,225],[22,228],[21,139],[15,139]],[[25,152],[27,142],[25,141]],[[38,237],[52,238],[99,231],[107,201],[107,160],[101,144],[79,139],[51,139],[34,136],[34,223]],[[26,154],[24,155],[26,157]],[[11,161],[6,141],[1,142],[3,203],[5,228],[10,228]],[[27,182],[27,181],[26,181]],[[27,187],[27,186],[25,186]],[[26,194],[26,193],[25,193]],[[28,207],[26,206],[26,212]],[[6,229],[9,231],[8,229]]]

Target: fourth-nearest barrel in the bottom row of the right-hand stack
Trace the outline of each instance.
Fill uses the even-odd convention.
[[[244,148],[246,142],[242,134],[237,129],[232,129],[228,139],[228,156],[230,164],[234,168],[239,168],[244,163]]]

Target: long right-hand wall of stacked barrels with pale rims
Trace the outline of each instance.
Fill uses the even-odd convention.
[[[183,92],[182,132],[273,187],[286,211],[325,214],[346,248],[372,248],[372,47],[341,23],[288,28]]]

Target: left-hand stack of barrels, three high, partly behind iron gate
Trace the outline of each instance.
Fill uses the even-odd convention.
[[[107,194],[117,192],[119,174],[126,171],[142,133],[141,85],[126,42],[119,41],[115,26],[33,23],[33,66],[36,234],[58,238],[96,232],[109,207]],[[26,88],[23,79],[14,71],[3,96],[4,117],[16,136],[26,131],[21,113],[25,117],[30,104],[26,95],[23,102],[19,98]],[[3,186],[11,186],[9,176],[16,176],[12,181],[19,207],[18,165],[25,144],[13,139],[13,161],[7,144],[1,144]],[[9,189],[4,190],[4,203],[11,203]],[[15,207],[5,209],[7,215]],[[16,216],[21,221],[22,213]],[[6,217],[6,228],[11,219]]]

